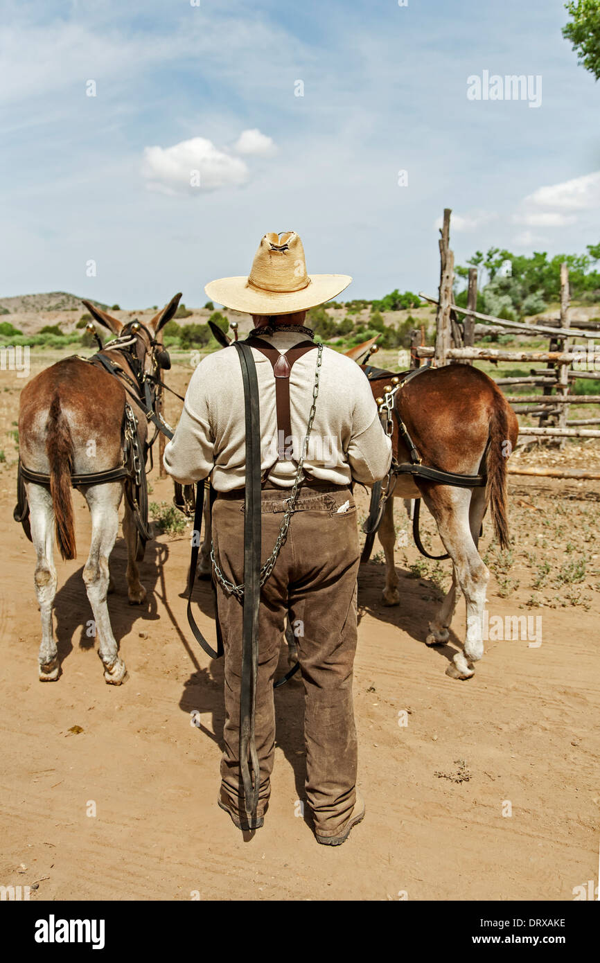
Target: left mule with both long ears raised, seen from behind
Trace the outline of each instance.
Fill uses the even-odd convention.
[[[131,331],[135,353],[144,372],[153,366],[153,340],[173,317],[181,295],[159,311],[148,325]],[[117,318],[84,301],[93,318],[118,336],[124,325]],[[146,329],[147,328],[147,329]],[[102,352],[134,380],[135,371],[127,351]],[[107,471],[122,458],[122,426],[125,402],[138,419],[142,446],[147,422],[142,408],[125,393],[119,378],[77,357],[65,358],[46,368],[23,389],[18,420],[19,449],[22,463],[31,471],[50,476],[49,487],[25,481],[30,508],[31,535],[37,553],[35,585],[41,614],[39,679],[58,679],[60,664],[52,623],[52,603],[57,588],[53,560],[54,534],[64,559],[75,558],[75,530],[71,498],[71,474]],[[120,685],[126,674],[118,655],[107,607],[109,558],[117,538],[118,507],[123,481],[109,481],[80,488],[91,513],[90,555],[83,578],[90,599],[98,637],[98,654],[104,664],[104,678]],[[127,543],[127,590],[129,602],[141,605],[145,589],[140,584],[136,560],[136,526],[133,512],[125,500],[123,535]]]

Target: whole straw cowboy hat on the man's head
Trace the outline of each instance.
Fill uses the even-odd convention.
[[[248,277],[222,277],[204,290],[211,300],[248,314],[294,314],[335,298],[349,274],[308,274],[295,231],[265,234]]]

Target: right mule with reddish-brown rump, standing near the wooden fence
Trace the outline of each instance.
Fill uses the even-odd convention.
[[[383,387],[389,381],[389,375],[371,381],[376,399],[384,394]],[[464,652],[456,653],[447,674],[468,679],[474,674],[473,663],[483,656],[483,607],[489,571],[479,554],[478,539],[488,507],[501,548],[509,545],[507,460],[518,435],[516,415],[491,378],[471,365],[458,364],[431,368],[412,378],[397,391],[395,411],[424,465],[461,475],[484,472],[487,476],[484,487],[457,488],[399,475],[378,529],[386,562],[382,601],[384,605],[398,605],[401,599],[394,564],[394,498],[422,498],[430,509],[452,559],[453,579],[450,591],[430,621],[426,642],[439,645],[448,640],[460,589],[466,602]],[[398,462],[410,460],[408,449],[399,438],[396,417],[393,447]]]

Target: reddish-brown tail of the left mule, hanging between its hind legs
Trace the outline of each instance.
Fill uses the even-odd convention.
[[[46,453],[50,463],[50,494],[56,523],[56,540],[64,559],[75,558],[75,528],[71,496],[73,439],[61,400],[55,394],[46,423]]]

